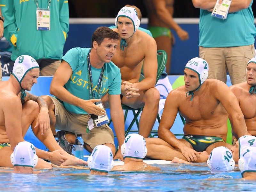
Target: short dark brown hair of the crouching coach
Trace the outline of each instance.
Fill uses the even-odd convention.
[[[92,34],[92,47],[94,41],[100,45],[105,38],[118,40],[119,35],[108,27],[98,27]]]

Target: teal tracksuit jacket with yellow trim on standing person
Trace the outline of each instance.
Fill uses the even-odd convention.
[[[38,0],[39,8],[47,8],[49,0]],[[52,0],[50,30],[36,30],[34,0],[1,0],[4,36],[14,47],[11,59],[30,55],[34,59],[60,59],[69,28],[68,0]]]

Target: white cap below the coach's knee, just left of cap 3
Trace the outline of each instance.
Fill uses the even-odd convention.
[[[92,155],[87,160],[90,170],[109,172],[114,166],[113,154],[106,145],[98,145],[92,150]]]

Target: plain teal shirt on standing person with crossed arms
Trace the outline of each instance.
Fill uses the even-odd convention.
[[[212,17],[212,12],[200,9],[199,46],[237,47],[254,44],[256,28],[252,2],[247,9],[228,13],[225,20]]]

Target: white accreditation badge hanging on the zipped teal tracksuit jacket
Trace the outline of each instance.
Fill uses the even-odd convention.
[[[50,30],[50,9],[36,9],[36,29]]]

